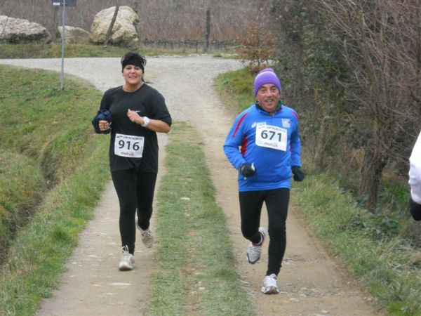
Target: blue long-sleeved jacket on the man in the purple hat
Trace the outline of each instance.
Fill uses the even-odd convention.
[[[291,166],[301,166],[298,114],[281,105],[269,114],[251,105],[236,117],[224,143],[224,152],[235,169],[254,164],[254,176],[239,173],[239,191],[290,188]]]

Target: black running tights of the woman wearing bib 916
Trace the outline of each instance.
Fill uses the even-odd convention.
[[[152,216],[152,203],[156,173],[135,171],[135,169],[113,171],[112,182],[119,197],[121,246],[128,246],[128,252],[134,254],[136,227],[135,213],[138,210],[138,223],[142,230],[149,228]]]

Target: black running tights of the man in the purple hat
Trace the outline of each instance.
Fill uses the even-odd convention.
[[[286,248],[286,217],[288,216],[289,189],[239,192],[241,232],[243,237],[260,242],[260,215],[266,204],[269,223],[269,263],[266,275],[279,274]]]

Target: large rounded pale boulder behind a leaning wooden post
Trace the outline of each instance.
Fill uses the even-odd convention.
[[[113,6],[95,15],[91,26],[91,42],[94,44],[105,43],[115,9],[116,7]],[[138,14],[129,6],[120,6],[108,43],[115,46],[137,48],[139,45],[138,25]]]

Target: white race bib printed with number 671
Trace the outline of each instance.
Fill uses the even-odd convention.
[[[278,126],[257,124],[256,145],[286,152],[287,131]]]

